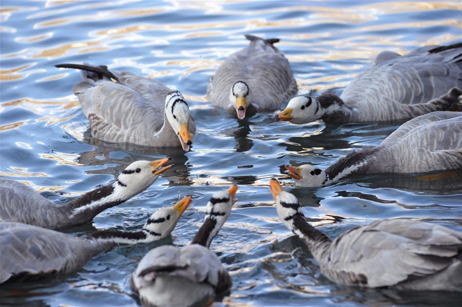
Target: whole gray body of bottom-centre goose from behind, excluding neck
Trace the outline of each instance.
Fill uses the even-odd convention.
[[[208,248],[198,244],[182,248],[165,245],[143,257],[130,283],[144,303],[183,306],[224,294],[230,289],[231,279]]]

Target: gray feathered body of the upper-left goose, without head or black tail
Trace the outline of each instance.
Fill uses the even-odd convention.
[[[93,135],[107,142],[170,146],[153,139],[164,123],[165,97],[170,90],[157,80],[113,73],[120,83],[107,77],[97,79],[93,72],[82,70],[83,81],[73,88]]]

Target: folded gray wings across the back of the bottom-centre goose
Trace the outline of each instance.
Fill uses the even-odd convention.
[[[185,278],[196,284],[210,284],[217,294],[229,290],[232,284],[217,255],[198,244],[183,248],[164,245],[149,251],[133,273],[132,284],[135,289],[140,289],[162,275]]]

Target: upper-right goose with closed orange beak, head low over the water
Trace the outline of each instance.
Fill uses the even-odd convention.
[[[457,88],[458,87],[458,88]],[[406,120],[433,112],[460,109],[462,43],[427,46],[407,55],[381,52],[340,97],[298,96],[277,117],[295,124]]]

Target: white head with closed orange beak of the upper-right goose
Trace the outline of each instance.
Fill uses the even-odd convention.
[[[315,99],[297,96],[287,103],[287,107],[279,113],[276,120],[294,124],[311,123],[321,119],[323,113],[324,110]]]

